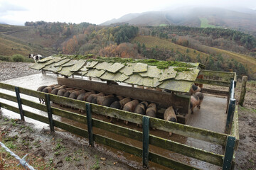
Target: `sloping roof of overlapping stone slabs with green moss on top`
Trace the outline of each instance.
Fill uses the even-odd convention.
[[[133,60],[119,57],[75,59],[70,56],[50,56],[39,60],[31,68],[43,69],[68,77],[77,74],[180,92],[188,92],[198,73],[204,68],[200,63]]]

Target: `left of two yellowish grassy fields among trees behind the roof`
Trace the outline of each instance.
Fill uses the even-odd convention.
[[[196,56],[198,55],[200,55],[200,57],[203,59],[209,57],[209,55],[206,53],[193,50],[189,47],[176,45],[175,43],[170,42],[170,40],[164,40],[153,36],[137,36],[136,38],[134,38],[134,40],[132,40],[132,42],[139,42],[140,44],[144,44],[148,48],[157,46],[160,49],[173,50],[174,52],[178,51],[181,52],[181,54],[189,55],[194,60],[196,60]]]

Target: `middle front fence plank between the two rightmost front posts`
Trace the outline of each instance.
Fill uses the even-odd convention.
[[[178,142],[162,139],[161,137],[156,137],[154,135],[149,136],[149,144],[156,147],[161,147],[163,149],[168,149],[178,154],[183,154],[187,157],[193,157],[203,162],[208,162],[210,164],[215,164],[218,166],[222,166],[223,164],[224,155],[215,154],[195,147],[190,147],[188,145],[183,145]]]

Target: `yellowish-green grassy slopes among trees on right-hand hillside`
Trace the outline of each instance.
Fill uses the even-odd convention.
[[[213,56],[213,62],[215,62],[215,65],[217,65],[215,70],[220,70],[220,68],[218,68],[218,64],[216,64],[217,62],[221,62],[222,67],[225,68],[227,71],[232,70],[232,68],[228,66],[230,62],[238,62],[241,63],[245,67],[245,69],[247,69],[249,74],[255,74],[256,72],[256,59],[247,55],[241,55],[236,52],[220,50],[218,48],[208,47],[206,45],[201,45],[201,51],[197,51],[193,50],[192,48],[177,45],[173,42],[170,42],[170,40],[164,40],[153,36],[137,36],[136,38],[134,38],[133,42],[139,42],[140,44],[144,44],[146,48],[156,48],[157,46],[157,48],[159,49],[173,50],[174,52],[178,51],[181,52],[181,54],[183,55],[188,55],[192,58],[193,61],[197,61],[196,57],[200,55],[201,61],[203,62],[203,64],[206,64],[206,66],[208,66],[209,64],[208,58],[210,58],[210,56]],[[205,60],[208,60],[208,62],[204,63]],[[212,67],[208,67],[206,69],[211,68]]]

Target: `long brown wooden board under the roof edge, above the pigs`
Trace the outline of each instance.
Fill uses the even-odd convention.
[[[104,92],[106,94],[116,94],[117,96],[125,96],[136,98],[141,101],[150,101],[159,103],[161,107],[168,108],[174,106],[182,108],[182,113],[188,113],[190,96],[177,96],[162,91],[149,91],[146,89],[133,88],[128,86],[107,85],[97,81],[87,81],[82,79],[65,79],[58,77],[58,84],[65,84],[67,86],[78,87],[87,90],[95,90]]]

